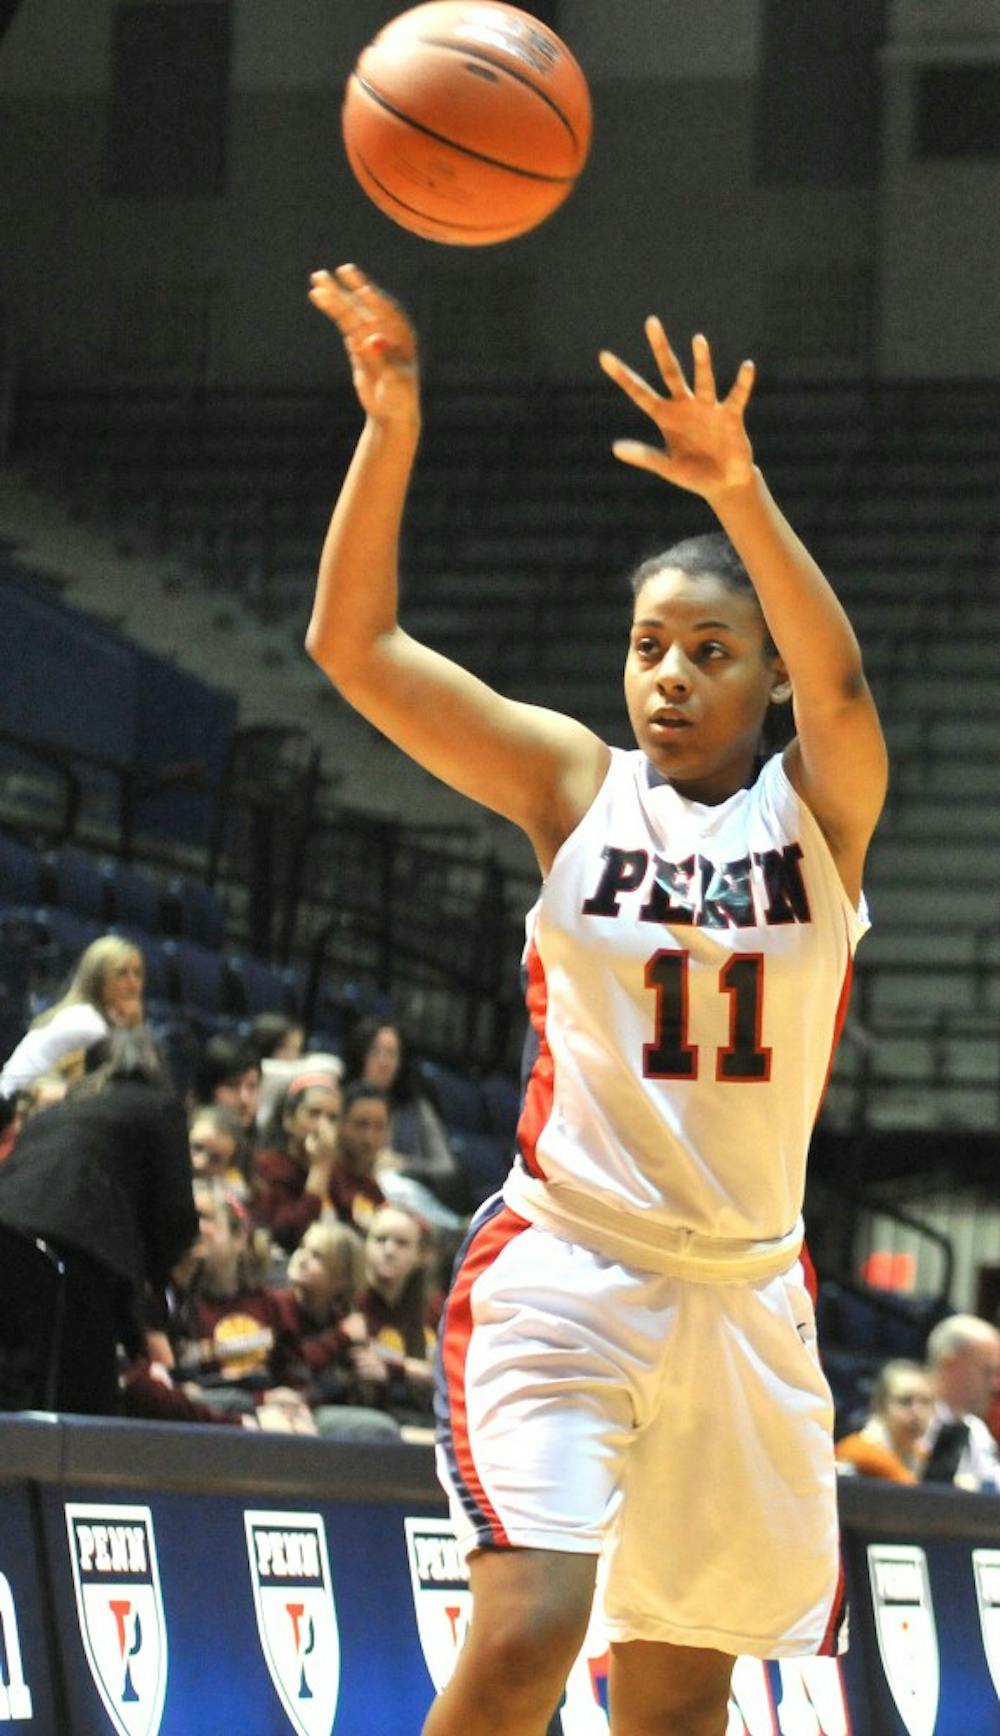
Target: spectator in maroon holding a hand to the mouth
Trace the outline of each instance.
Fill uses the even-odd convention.
[[[337,1146],[340,1082],[307,1071],[278,1099],[253,1161],[253,1219],[292,1250],[328,1200]]]

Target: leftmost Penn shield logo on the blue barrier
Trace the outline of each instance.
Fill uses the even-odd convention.
[[[148,1507],[66,1503],[80,1637],[118,1736],[156,1736],[167,1621]]]

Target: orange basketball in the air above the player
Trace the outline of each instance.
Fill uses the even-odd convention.
[[[556,31],[498,0],[431,0],[385,24],[344,94],[344,144],[394,222],[450,247],[550,217],[590,148],[590,92]]]

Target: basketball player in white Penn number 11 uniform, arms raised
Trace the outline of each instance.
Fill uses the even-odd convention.
[[[851,625],[753,464],[753,368],[660,384],[625,464],[720,531],[641,568],[637,748],[493,693],[396,618],[413,330],[354,266],[312,278],[366,420],[307,649],[457,790],[528,833],[536,1059],[503,1193],[439,1342],[439,1469],[472,1623],[424,1736],[543,1736],[606,1554],[615,1736],[722,1736],[733,1660],[837,1647],[832,1403],[799,1260],[806,1149],[866,927],[885,750]],[[578,623],[569,623],[578,627]],[[795,738],[760,760],[773,705]]]

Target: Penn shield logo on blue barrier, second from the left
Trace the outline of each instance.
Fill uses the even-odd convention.
[[[264,1661],[299,1736],[330,1736],[340,1694],[340,1632],[319,1514],[245,1512]]]

